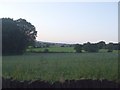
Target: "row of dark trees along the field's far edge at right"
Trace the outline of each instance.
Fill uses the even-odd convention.
[[[120,50],[120,42],[119,43],[108,43],[106,44],[104,41],[100,41],[98,43],[84,43],[84,44],[75,44],[74,49],[77,53],[85,50],[86,52],[98,52],[99,49],[107,49],[108,52],[112,52],[113,50]]]

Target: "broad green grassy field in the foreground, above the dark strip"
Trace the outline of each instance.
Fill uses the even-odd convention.
[[[2,58],[5,78],[49,82],[66,79],[118,81],[117,53],[29,53]]]

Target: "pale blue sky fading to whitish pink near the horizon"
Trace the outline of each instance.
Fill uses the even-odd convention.
[[[117,2],[3,2],[3,17],[26,19],[36,27],[38,41],[118,42]]]

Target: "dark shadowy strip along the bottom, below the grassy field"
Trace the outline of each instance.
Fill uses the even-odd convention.
[[[2,87],[5,88],[119,88],[120,84],[113,81],[104,80],[65,80],[64,82],[54,82],[50,84],[47,81],[18,81],[2,78]]]

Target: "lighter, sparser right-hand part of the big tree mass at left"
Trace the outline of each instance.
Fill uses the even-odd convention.
[[[19,30],[24,34],[26,39],[26,46],[33,45],[37,37],[37,31],[35,30],[34,25],[30,22],[27,22],[25,19],[16,20]]]

